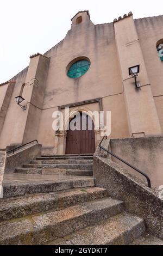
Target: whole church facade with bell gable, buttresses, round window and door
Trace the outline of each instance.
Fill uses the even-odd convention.
[[[64,117],[65,107],[68,124],[76,112],[110,111],[110,138],[161,136],[162,23],[163,16],[134,20],[129,13],[94,25],[89,11],[77,13],[64,40],[30,56],[26,69],[1,84],[0,148],[37,139],[47,154],[93,153],[102,138],[93,118],[92,131],[53,130],[53,113]]]

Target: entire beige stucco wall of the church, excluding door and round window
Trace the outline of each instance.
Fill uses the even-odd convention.
[[[83,17],[83,22],[76,25],[78,16]],[[161,97],[153,100],[153,96],[162,93],[161,78],[158,77],[163,63],[155,48],[162,33],[162,19],[162,16],[153,17],[150,23],[148,18],[145,21],[133,21],[133,17],[129,16],[114,24],[93,25],[86,12],[77,14],[72,19],[72,27],[64,40],[44,56],[33,56],[29,67],[12,78],[15,87],[5,115],[0,148],[38,139],[43,147],[51,147],[53,154],[57,153],[58,142],[52,129],[53,112],[62,105],[96,98],[102,99],[104,111],[111,111],[110,138],[131,137],[133,133],[160,135],[160,124],[163,128],[163,104]],[[146,23],[150,29],[146,29]],[[135,36],[139,44],[126,47],[125,44],[135,40]],[[150,40],[147,41],[148,38]],[[148,47],[146,42],[149,42]],[[68,64],[82,56],[90,59],[90,69],[80,78],[67,77]],[[136,62],[141,65],[140,82],[142,85],[149,84],[141,88],[139,93],[135,92],[133,78],[123,81],[129,78],[128,65],[138,64],[134,63],[135,56]],[[150,58],[154,60],[154,66],[159,66],[153,73]],[[22,105],[27,103],[26,111],[15,102],[15,96],[20,94],[23,83],[26,86]],[[92,111],[100,110],[98,102],[86,102],[82,106],[76,106],[76,109],[81,107]],[[143,109],[141,115],[139,108]],[[65,134],[62,133],[62,136],[64,141]]]

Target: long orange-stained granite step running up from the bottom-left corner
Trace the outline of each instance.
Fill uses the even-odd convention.
[[[120,214],[123,210],[123,202],[104,198],[12,222],[1,222],[0,244],[44,245]]]

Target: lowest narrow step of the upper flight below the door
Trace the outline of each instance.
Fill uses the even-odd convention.
[[[92,170],[60,169],[60,168],[17,168],[14,173],[42,174],[42,175],[73,175],[73,176],[92,176]]]

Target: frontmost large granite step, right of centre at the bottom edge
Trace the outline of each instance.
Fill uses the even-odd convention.
[[[51,242],[51,245],[129,245],[145,231],[143,220],[126,212]]]

